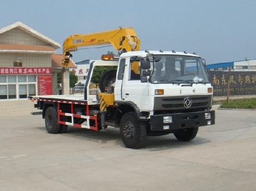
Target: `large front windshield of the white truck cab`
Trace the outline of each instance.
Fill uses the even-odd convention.
[[[154,72],[153,72],[154,70]],[[209,83],[200,57],[161,56],[158,62],[151,62],[151,83]]]

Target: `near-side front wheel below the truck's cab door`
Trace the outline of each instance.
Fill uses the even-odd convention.
[[[120,122],[120,134],[127,148],[139,149],[146,141],[146,127],[140,125],[134,112],[125,113]]]

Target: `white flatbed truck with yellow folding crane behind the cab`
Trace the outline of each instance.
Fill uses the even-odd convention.
[[[118,39],[136,47],[133,42],[137,38],[132,36]],[[117,50],[118,57],[106,55],[90,63],[84,94],[29,97],[40,110],[49,133],[66,133],[68,126],[94,131],[111,126],[119,128],[127,148],[138,149],[145,146],[147,136],[173,133],[180,141],[190,141],[199,127],[215,124],[213,89],[200,56],[161,50],[126,51],[118,46]],[[70,51],[76,49],[63,49],[63,67],[67,66]],[[106,66],[111,69],[102,74],[99,93],[91,93],[94,72]]]

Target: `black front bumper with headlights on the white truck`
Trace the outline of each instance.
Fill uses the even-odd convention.
[[[205,119],[205,113],[210,113],[210,119]],[[164,116],[172,116],[172,123],[163,123]],[[208,122],[210,121],[210,122]],[[210,123],[210,124],[208,124]],[[183,128],[200,127],[215,124],[215,110],[191,113],[173,113],[150,116],[151,131],[169,131]],[[165,126],[165,128],[164,128]],[[166,128],[169,126],[169,128]]]

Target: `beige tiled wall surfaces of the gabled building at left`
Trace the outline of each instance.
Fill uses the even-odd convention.
[[[47,45],[46,42],[34,34],[14,28],[10,31],[0,34],[0,43],[3,44],[33,44],[33,45]],[[51,54],[38,54],[38,53],[0,53],[0,67],[14,67],[15,60],[22,61],[22,67],[27,68],[51,68]],[[51,74],[50,74],[51,75]],[[8,75],[7,75],[8,76]],[[11,75],[10,75],[11,76]],[[4,75],[2,76],[4,77]],[[38,78],[38,76],[37,76]],[[36,80],[38,83],[38,79]],[[9,83],[9,82],[7,82]],[[16,86],[18,87],[18,86]],[[36,85],[36,93],[38,93],[38,84]],[[34,108],[34,102],[23,98],[19,99],[0,99],[0,116],[6,115],[29,115],[31,111],[38,111]]]

